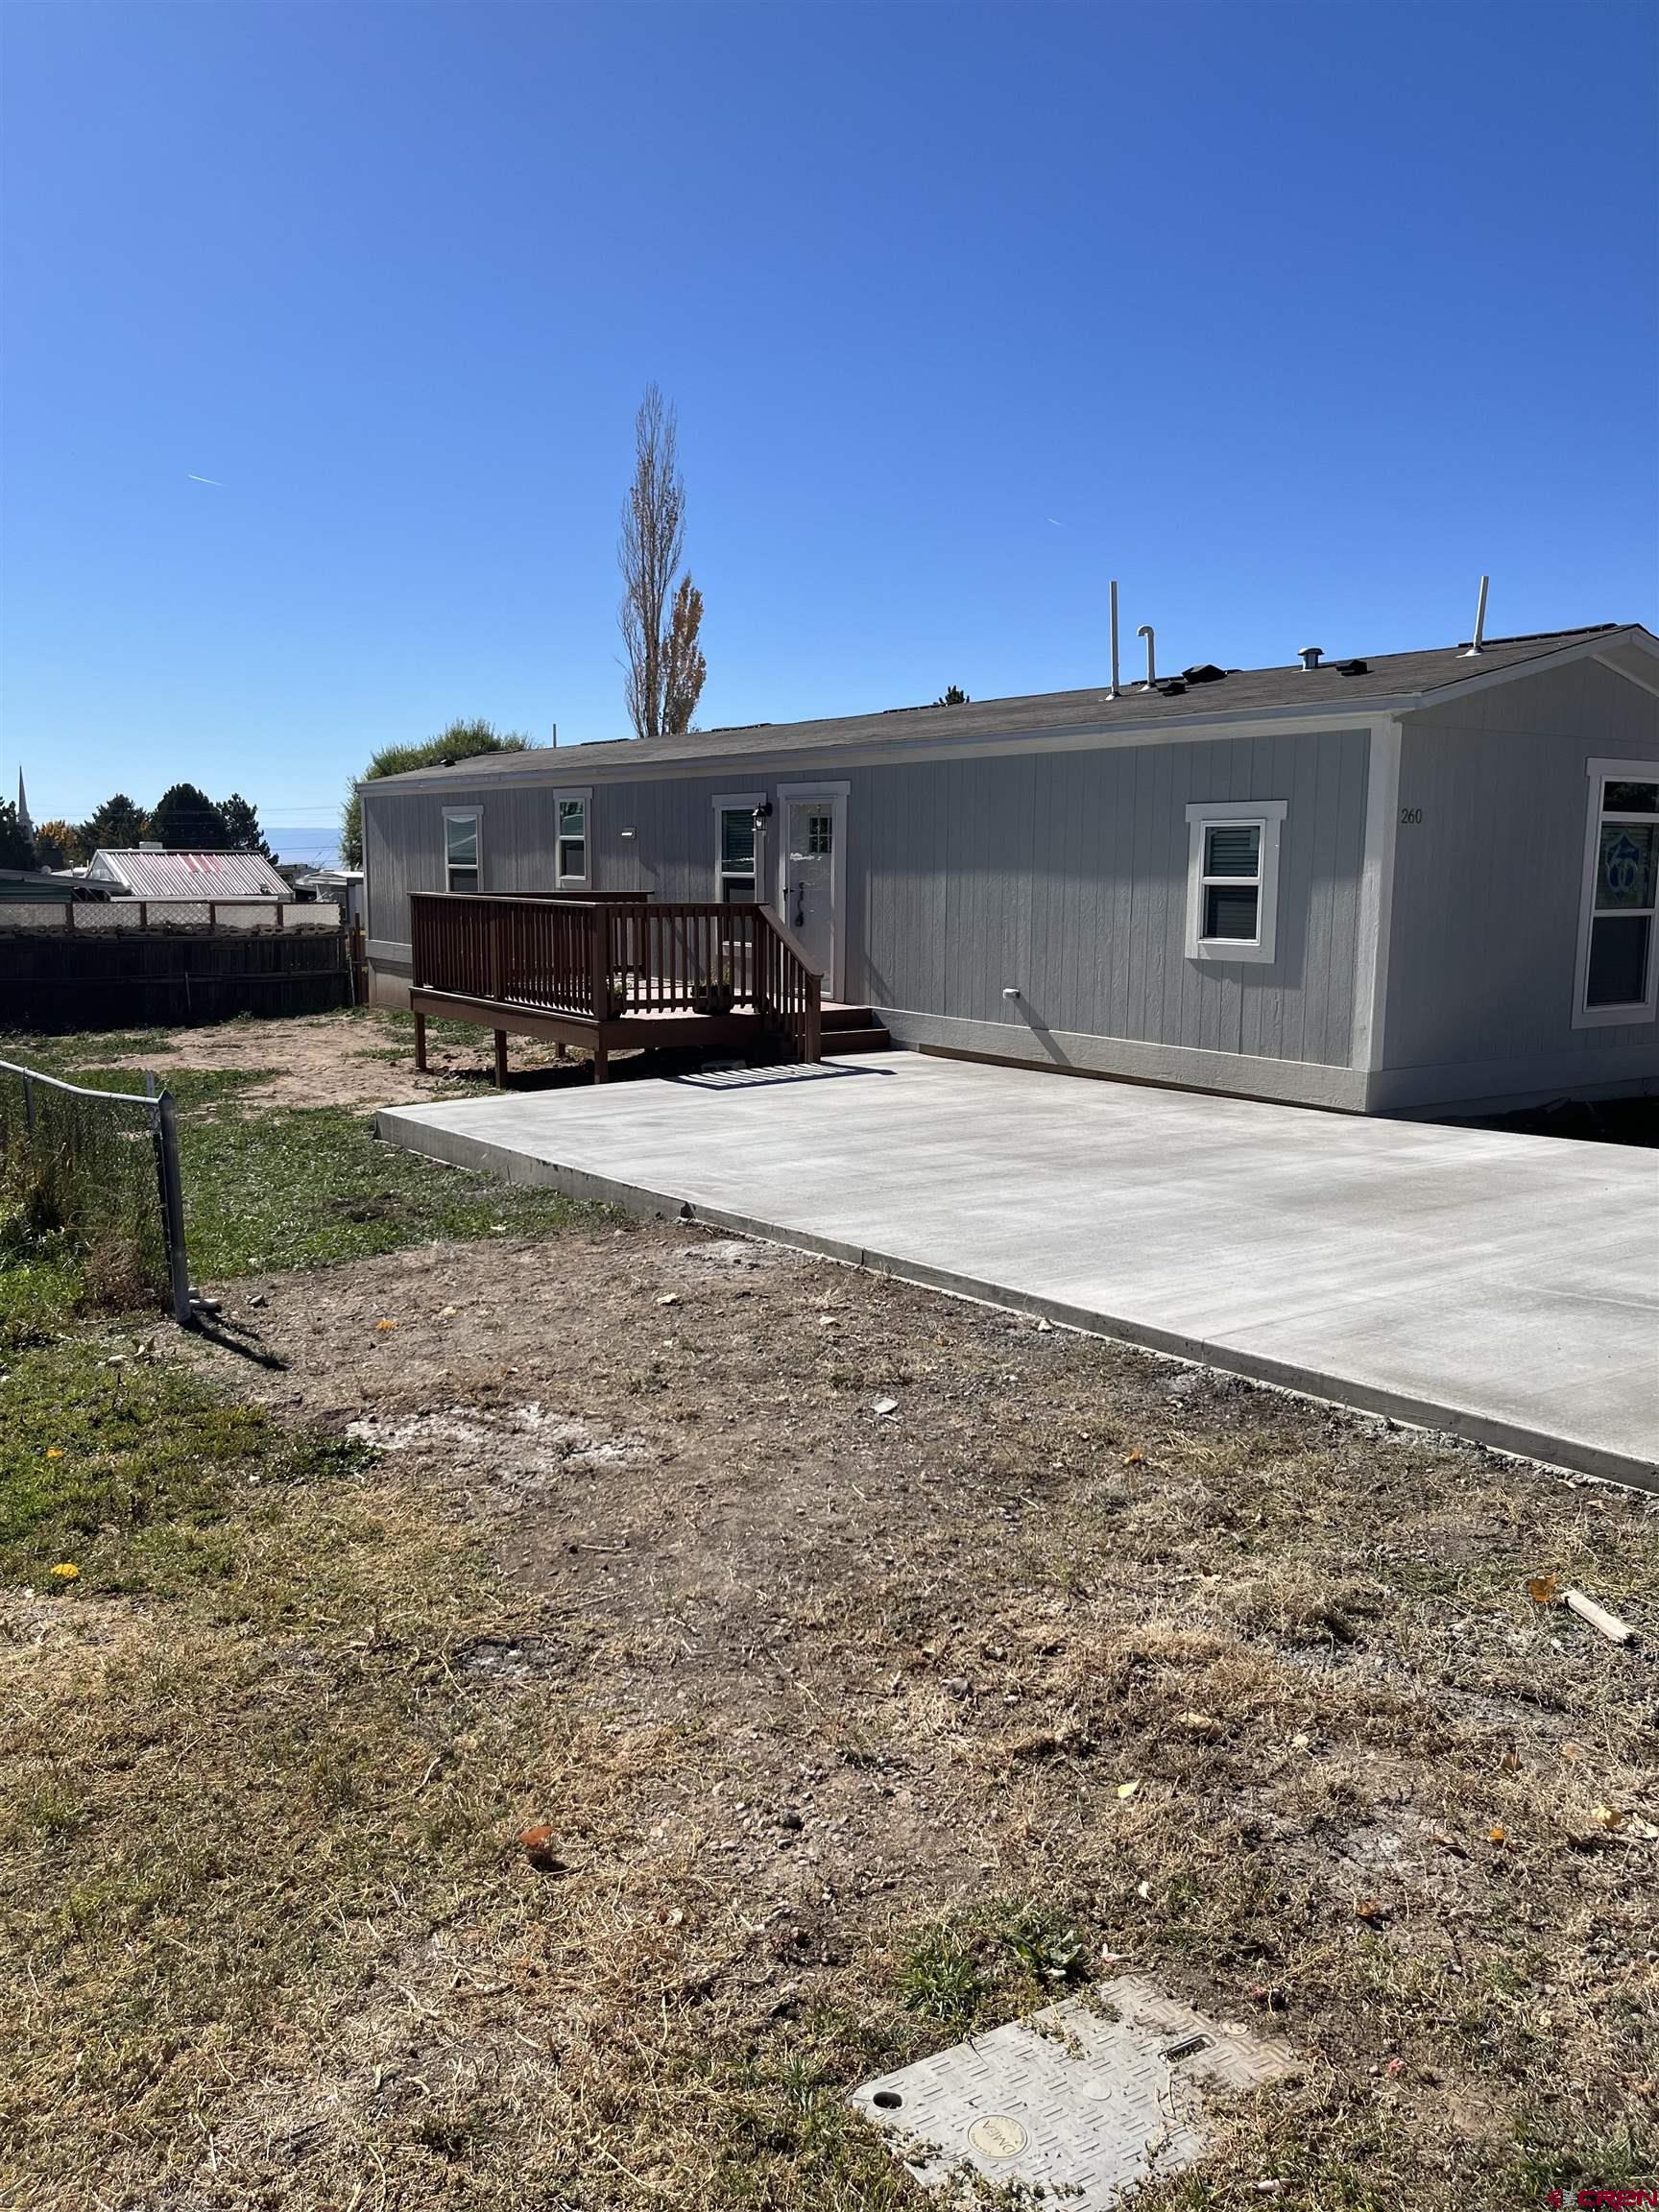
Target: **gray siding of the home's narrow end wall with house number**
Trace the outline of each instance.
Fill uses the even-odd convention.
[[[1405,717],[1378,1104],[1659,1077],[1652,1022],[1573,1029],[1590,759],[1659,759],[1590,659]]]

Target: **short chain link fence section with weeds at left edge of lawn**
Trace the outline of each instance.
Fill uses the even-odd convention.
[[[0,1060],[0,1263],[64,1237],[111,1301],[153,1296],[190,1323],[173,1099],[84,1091]]]

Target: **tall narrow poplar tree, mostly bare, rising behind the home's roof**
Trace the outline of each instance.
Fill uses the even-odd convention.
[[[664,405],[657,385],[648,385],[633,420],[633,482],[617,540],[626,697],[635,737],[688,730],[708,675],[697,644],[701,591],[684,573],[672,604],[668,597],[686,549],[686,484],[677,447],[675,409]]]

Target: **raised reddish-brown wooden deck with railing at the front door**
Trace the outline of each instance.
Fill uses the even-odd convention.
[[[768,907],[478,891],[409,907],[416,1066],[431,1015],[493,1031],[498,1084],[511,1035],[580,1046],[595,1082],[617,1051],[823,1053],[821,978]]]

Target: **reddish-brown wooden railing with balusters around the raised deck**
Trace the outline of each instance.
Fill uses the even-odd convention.
[[[414,891],[409,940],[416,991],[591,1022],[752,1011],[821,1053],[821,975],[768,907]]]

